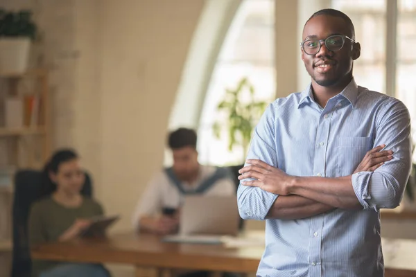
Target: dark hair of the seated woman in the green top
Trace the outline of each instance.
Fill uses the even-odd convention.
[[[61,163],[78,159],[78,154],[71,149],[61,149],[53,153],[51,159],[45,164],[43,170],[43,182],[46,191],[55,190],[56,185],[49,177],[49,173],[57,173]]]

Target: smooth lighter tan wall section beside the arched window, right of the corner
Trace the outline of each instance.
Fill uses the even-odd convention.
[[[110,213],[130,215],[162,167],[168,118],[202,0],[102,0],[101,188]]]

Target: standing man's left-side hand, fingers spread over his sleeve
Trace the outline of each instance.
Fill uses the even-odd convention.
[[[288,186],[293,181],[293,176],[287,175],[279,168],[269,166],[264,161],[248,160],[246,163],[250,166],[245,166],[239,170],[241,174],[239,180],[242,179],[256,179],[251,181],[243,181],[243,186],[257,186],[262,190],[276,195],[288,195]]]

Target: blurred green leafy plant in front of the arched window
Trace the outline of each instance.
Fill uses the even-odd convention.
[[[228,149],[241,147],[243,154],[239,163],[244,163],[248,152],[252,131],[266,109],[268,102],[256,100],[254,86],[248,78],[242,78],[234,89],[227,89],[217,111],[225,112],[225,122],[216,121],[214,135],[220,139],[221,130],[227,128]]]

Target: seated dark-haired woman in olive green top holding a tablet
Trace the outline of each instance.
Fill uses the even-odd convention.
[[[85,175],[75,152],[55,152],[44,168],[44,176],[49,183],[45,186],[53,185],[56,189],[31,208],[28,227],[31,245],[76,238],[89,226],[89,218],[103,215],[100,204],[80,194]],[[32,276],[108,277],[110,274],[102,265],[33,260]]]

